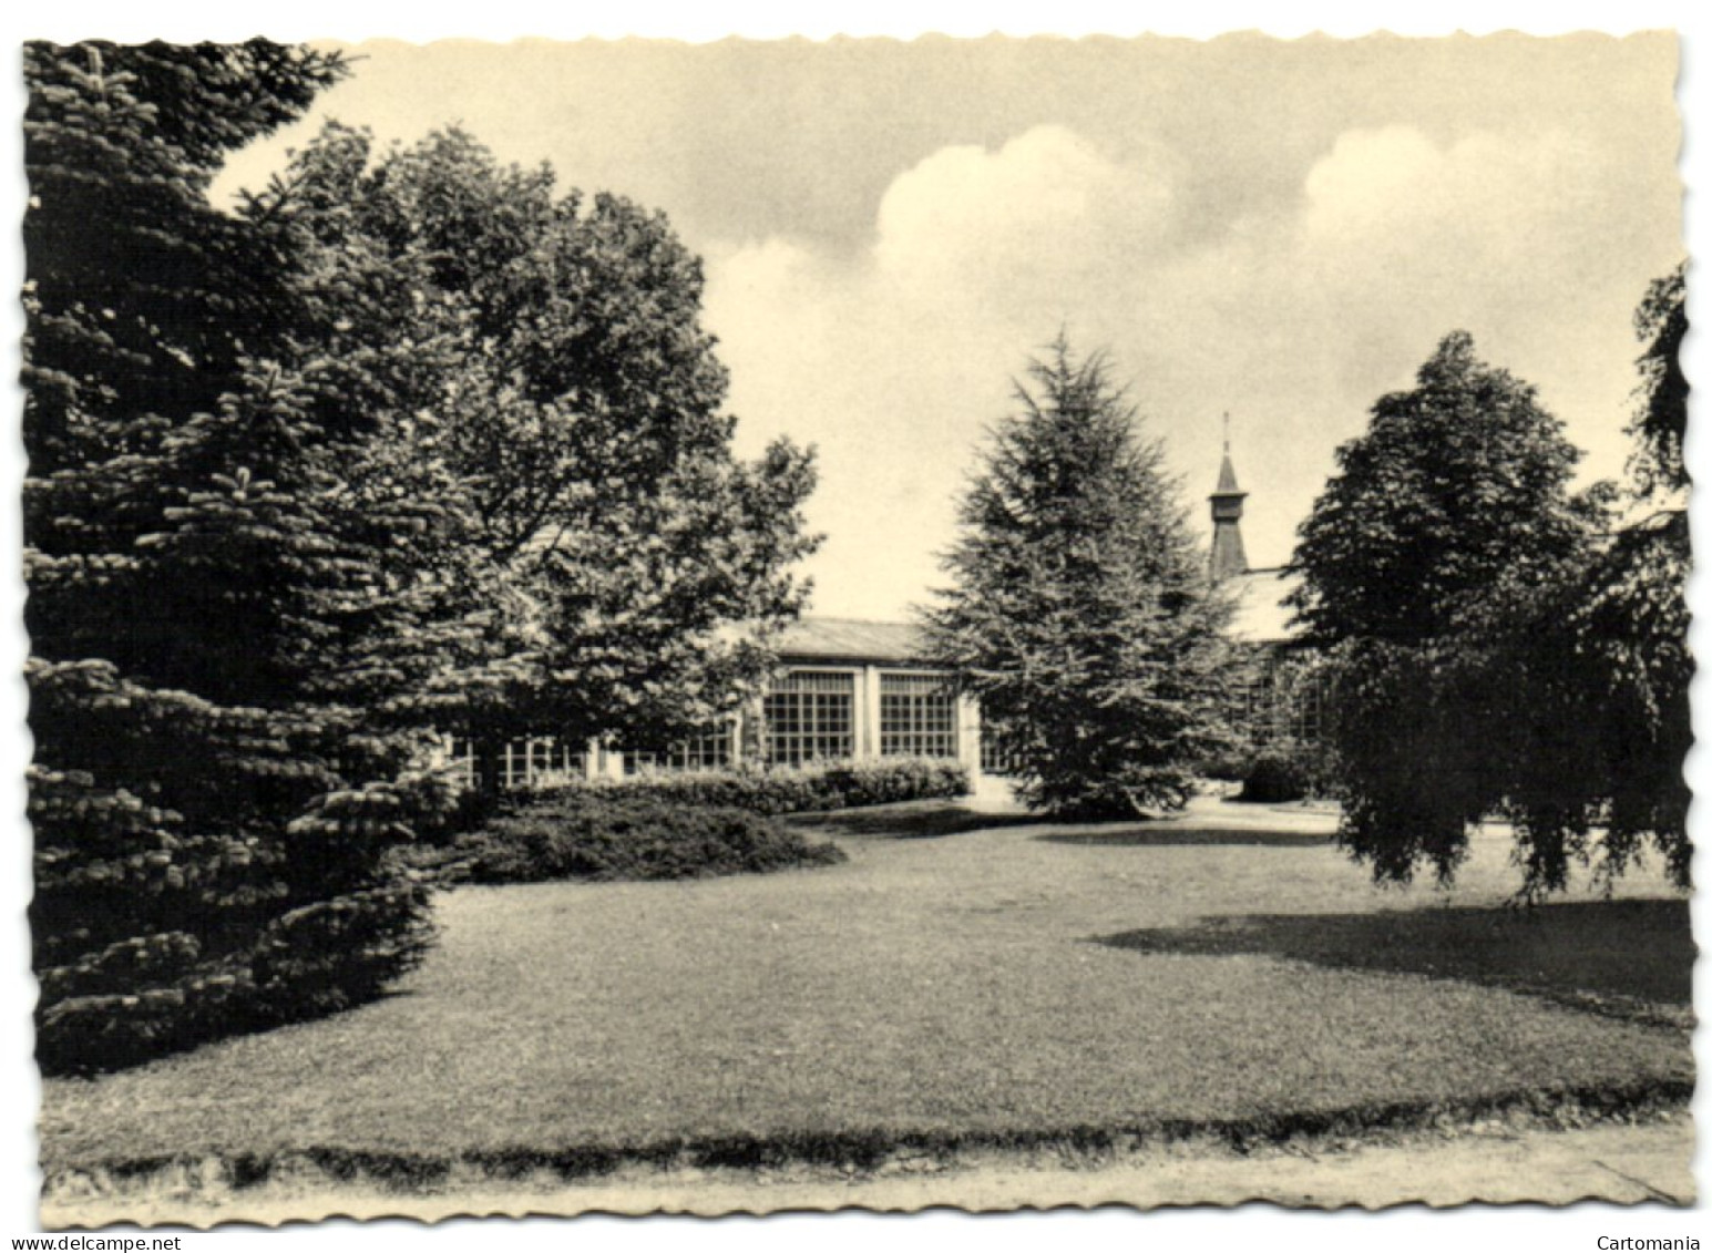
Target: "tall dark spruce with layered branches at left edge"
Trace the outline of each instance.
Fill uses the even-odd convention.
[[[431,789],[372,724],[406,628],[293,334],[289,240],[207,202],[334,56],[31,45],[26,572],[38,1058],[98,1070],[377,995],[428,941]],[[382,517],[382,522],[387,519]]]

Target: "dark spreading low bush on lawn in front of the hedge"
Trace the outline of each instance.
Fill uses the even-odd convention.
[[[750,810],[565,789],[459,840],[473,883],[664,880],[834,866],[844,852]]]

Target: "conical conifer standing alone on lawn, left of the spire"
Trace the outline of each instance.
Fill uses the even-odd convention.
[[[1229,606],[1104,359],[1060,339],[1029,373],[960,502],[930,652],[979,697],[1031,808],[1181,806],[1219,739]]]

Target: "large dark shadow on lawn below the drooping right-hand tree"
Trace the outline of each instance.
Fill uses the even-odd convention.
[[[1536,909],[1245,914],[1099,936],[1140,953],[1253,953],[1349,971],[1457,979],[1620,1018],[1693,1022],[1688,902],[1587,900]]]

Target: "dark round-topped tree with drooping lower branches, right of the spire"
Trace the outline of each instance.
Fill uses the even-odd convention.
[[[1534,389],[1457,332],[1339,448],[1301,527],[1296,609],[1335,673],[1340,839],[1382,880],[1450,880],[1471,827],[1503,813],[1537,897],[1577,861],[1621,873],[1644,834],[1679,823],[1659,727],[1686,656],[1669,597],[1644,604],[1669,577],[1642,573],[1640,532],[1608,536],[1608,484],[1572,495],[1577,457]],[[1669,645],[1640,645],[1649,615]]]

